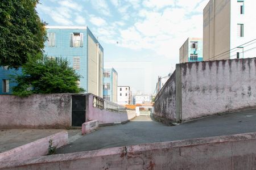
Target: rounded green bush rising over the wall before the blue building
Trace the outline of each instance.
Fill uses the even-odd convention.
[[[30,60],[22,66],[22,74],[16,74],[17,86],[13,94],[28,96],[31,94],[80,93],[77,82],[81,76],[68,66],[67,59],[43,57]]]

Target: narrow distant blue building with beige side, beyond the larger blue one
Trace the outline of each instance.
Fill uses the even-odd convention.
[[[117,103],[117,71],[115,69],[104,69],[103,73],[103,97],[106,100]]]

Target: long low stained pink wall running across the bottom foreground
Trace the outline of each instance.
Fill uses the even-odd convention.
[[[256,133],[44,156],[0,169],[255,169]],[[97,163],[96,163],[97,162]]]

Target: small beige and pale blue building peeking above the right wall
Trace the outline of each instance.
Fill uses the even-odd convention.
[[[203,61],[203,39],[188,38],[180,47],[180,63]]]

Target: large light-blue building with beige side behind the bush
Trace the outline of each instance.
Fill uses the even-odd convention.
[[[48,57],[67,58],[69,65],[82,78],[78,82],[86,92],[103,97],[104,49],[88,27],[47,26],[48,41],[44,51]],[[0,70],[3,80],[13,70]],[[10,84],[13,86],[14,84]],[[2,85],[3,87],[3,85]],[[11,91],[10,91],[11,92]],[[5,94],[2,91],[0,94]]]

